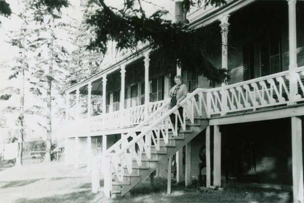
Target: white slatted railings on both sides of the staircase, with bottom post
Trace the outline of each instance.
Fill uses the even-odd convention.
[[[206,109],[205,94],[207,89],[197,89],[183,101],[180,105],[184,107],[183,119],[179,115],[177,106],[169,110],[170,104],[166,104],[159,108],[153,116],[135,127],[132,132],[128,133],[118,143],[115,143],[104,154],[104,194],[110,196],[112,172],[119,181],[123,181],[124,169],[127,167],[129,175],[132,174],[133,159],[136,160],[137,166],[142,165],[142,154],[146,153],[148,159],[151,159],[151,147],[155,146],[156,151],[160,150],[160,136],[164,138],[164,142],[169,142],[169,129],[172,129],[173,136],[178,136],[177,120],[181,124],[183,130],[186,129],[185,118],[189,118],[194,123],[194,117],[203,117],[203,111]],[[196,101],[198,95],[198,101]],[[170,115],[175,114],[175,126],[170,119]],[[208,116],[208,115],[206,115]],[[136,132],[140,132],[138,135]],[[129,142],[128,138],[132,140]],[[152,142],[151,142],[152,140]]]

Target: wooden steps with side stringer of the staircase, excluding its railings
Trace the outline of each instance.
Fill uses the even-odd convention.
[[[169,142],[166,144],[164,138],[159,138],[159,150],[156,150],[155,145],[151,145],[151,157],[147,157],[146,152],[142,152],[141,166],[135,159],[132,160],[132,173],[128,172],[126,166],[124,170],[123,181],[119,181],[115,176],[112,179],[111,196],[124,196],[129,190],[137,185],[141,180],[147,178],[160,165],[168,162],[168,158],[174,155],[178,150],[190,142],[200,132],[208,126],[206,119],[195,119],[195,123],[186,121],[186,129],[180,130],[178,136],[174,136],[172,131],[169,132]]]

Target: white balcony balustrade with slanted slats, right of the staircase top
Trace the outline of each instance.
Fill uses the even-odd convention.
[[[297,68],[292,76],[293,93],[289,92],[289,71],[210,89],[207,93],[208,114],[225,115],[304,101],[304,67]]]

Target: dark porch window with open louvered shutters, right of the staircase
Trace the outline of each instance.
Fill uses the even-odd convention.
[[[279,73],[281,51],[279,34],[254,39],[243,48],[244,80]]]

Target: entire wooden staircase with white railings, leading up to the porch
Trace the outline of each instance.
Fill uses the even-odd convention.
[[[124,196],[208,126],[203,91],[197,89],[180,102],[183,115],[177,106],[170,109],[170,103],[161,106],[103,154],[105,197]]]

